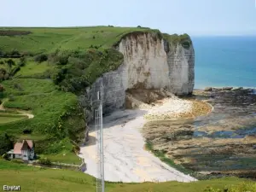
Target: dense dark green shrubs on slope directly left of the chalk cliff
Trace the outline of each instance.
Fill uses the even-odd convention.
[[[115,70],[123,61],[123,55],[115,49],[89,49],[55,51],[50,61],[60,67],[55,70],[52,79],[61,90],[80,94],[86,87],[94,83],[102,73]]]

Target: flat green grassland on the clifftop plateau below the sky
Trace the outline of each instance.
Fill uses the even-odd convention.
[[[160,31],[146,27],[88,26],[65,28],[1,27],[0,50],[16,49],[20,53],[38,54],[55,49],[108,49],[132,32]],[[164,35],[172,41],[177,35]],[[0,54],[1,55],[1,54]]]

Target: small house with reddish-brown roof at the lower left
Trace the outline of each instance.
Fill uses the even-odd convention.
[[[14,149],[7,154],[9,154],[10,159],[33,160],[35,154],[32,140],[23,140],[22,143],[15,143]]]

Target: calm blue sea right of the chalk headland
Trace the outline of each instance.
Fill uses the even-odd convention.
[[[256,37],[192,37],[195,89],[256,87]]]

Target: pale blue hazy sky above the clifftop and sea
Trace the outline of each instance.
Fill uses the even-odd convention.
[[[256,35],[256,0],[0,0],[0,26],[147,26]]]

